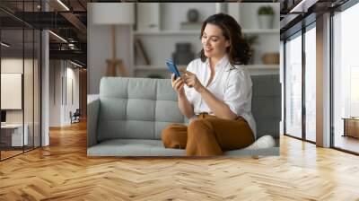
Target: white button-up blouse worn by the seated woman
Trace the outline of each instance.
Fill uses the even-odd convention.
[[[208,58],[206,62],[202,62],[200,58],[191,61],[187,66],[187,70],[196,74],[199,82],[206,87],[211,75]],[[184,89],[189,102],[193,106],[195,115],[201,112],[215,115],[194,88],[189,88],[185,85]],[[246,67],[232,66],[228,56],[225,55],[215,65],[215,77],[206,89],[217,99],[223,100],[237,116],[246,119],[256,137],[256,122],[250,112],[252,81]]]

